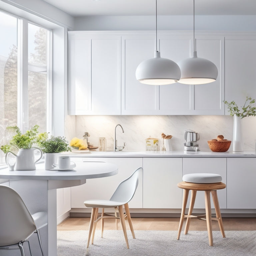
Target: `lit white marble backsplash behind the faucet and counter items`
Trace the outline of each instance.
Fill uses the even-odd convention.
[[[244,151],[255,150],[256,117],[246,117],[243,122]],[[126,151],[145,151],[145,139],[149,136],[160,139],[160,150],[163,140],[161,133],[172,135],[172,150],[184,150],[185,130],[191,129],[200,134],[198,141],[201,151],[210,151],[208,140],[222,134],[225,139],[233,139],[232,116],[67,116],[65,136],[70,141],[73,137],[83,138],[85,132],[90,134],[88,141],[98,146],[99,137],[105,137],[107,151],[113,151],[115,127],[117,145],[126,143]],[[229,148],[232,151],[232,143]]]

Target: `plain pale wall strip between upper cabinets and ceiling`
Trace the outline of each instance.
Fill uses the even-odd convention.
[[[256,31],[256,15],[198,15],[195,30]],[[158,16],[158,30],[193,30],[193,16]],[[155,16],[75,17],[74,30],[155,30]]]

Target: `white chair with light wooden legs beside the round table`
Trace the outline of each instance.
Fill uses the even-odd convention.
[[[123,180],[118,185],[117,189],[115,190],[110,200],[86,200],[84,202],[86,207],[92,207],[87,248],[89,247],[91,235],[92,235],[91,244],[93,244],[94,233],[95,233],[97,222],[101,220],[101,237],[103,237],[104,219],[115,218],[116,227],[117,227],[117,220],[120,219],[121,221],[124,237],[126,241],[126,246],[129,249],[126,226],[125,226],[125,218],[127,217],[130,230],[132,232],[132,237],[135,238],[128,203],[133,198],[134,193],[137,189],[140,170],[141,171],[143,170],[142,167],[136,169],[130,177]],[[125,208],[125,213],[123,212],[123,206]],[[99,208],[102,208],[102,214],[98,218]],[[104,208],[115,208],[115,216],[104,216]],[[119,212],[119,217],[116,214],[117,211]]]

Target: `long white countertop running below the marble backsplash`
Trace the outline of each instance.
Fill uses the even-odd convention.
[[[66,152],[70,157],[256,157],[256,151],[107,151],[91,153]]]

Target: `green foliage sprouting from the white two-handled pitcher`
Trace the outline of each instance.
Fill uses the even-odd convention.
[[[39,126],[35,125],[31,129],[27,130],[24,134],[22,134],[18,126],[8,126],[6,130],[13,132],[14,135],[9,141],[9,144],[2,145],[0,149],[3,150],[5,154],[12,148],[15,148],[16,150],[21,148],[30,149],[36,142],[38,128]]]

